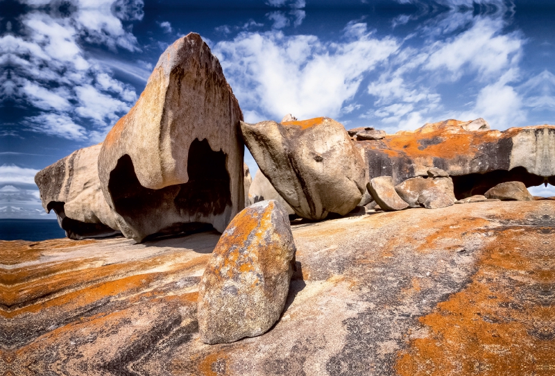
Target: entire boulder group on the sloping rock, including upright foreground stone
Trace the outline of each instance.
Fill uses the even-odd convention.
[[[527,187],[553,184],[554,160],[553,126],[499,132],[484,119],[447,120],[387,135],[328,117],[246,123],[218,59],[190,33],[164,51],[103,143],[35,182],[71,239],[223,233],[200,282],[198,323],[202,341],[228,343],[280,318],[295,268],[293,217],[533,200]]]

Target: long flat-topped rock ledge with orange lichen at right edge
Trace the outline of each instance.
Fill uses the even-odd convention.
[[[484,119],[447,120],[356,144],[369,179],[392,176],[397,185],[437,167],[453,178],[459,199],[484,194],[500,182],[555,184],[555,126],[499,132],[489,130]]]

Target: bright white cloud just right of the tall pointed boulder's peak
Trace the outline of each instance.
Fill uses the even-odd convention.
[[[278,120],[289,112],[299,119],[336,117],[364,74],[398,49],[391,38],[373,37],[365,24],[348,25],[345,35],[350,40],[330,43],[279,31],[241,33],[216,44],[214,53],[244,110]]]

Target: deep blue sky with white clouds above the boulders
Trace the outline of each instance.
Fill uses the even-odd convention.
[[[449,118],[554,123],[548,1],[337,3],[0,0],[0,218],[53,218],[36,171],[101,142],[191,31],[220,59],[246,121],[291,112],[388,133]]]

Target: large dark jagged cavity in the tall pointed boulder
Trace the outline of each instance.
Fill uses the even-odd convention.
[[[207,217],[222,214],[231,205],[230,175],[225,168],[227,155],[212,151],[207,139],[195,139],[189,147],[189,181],[162,189],[143,187],[129,155],[123,155],[110,172],[108,189],[116,212],[139,232],[158,228],[151,239],[164,234],[196,232]],[[196,223],[196,224],[194,224]],[[207,230],[206,226],[200,229]]]

